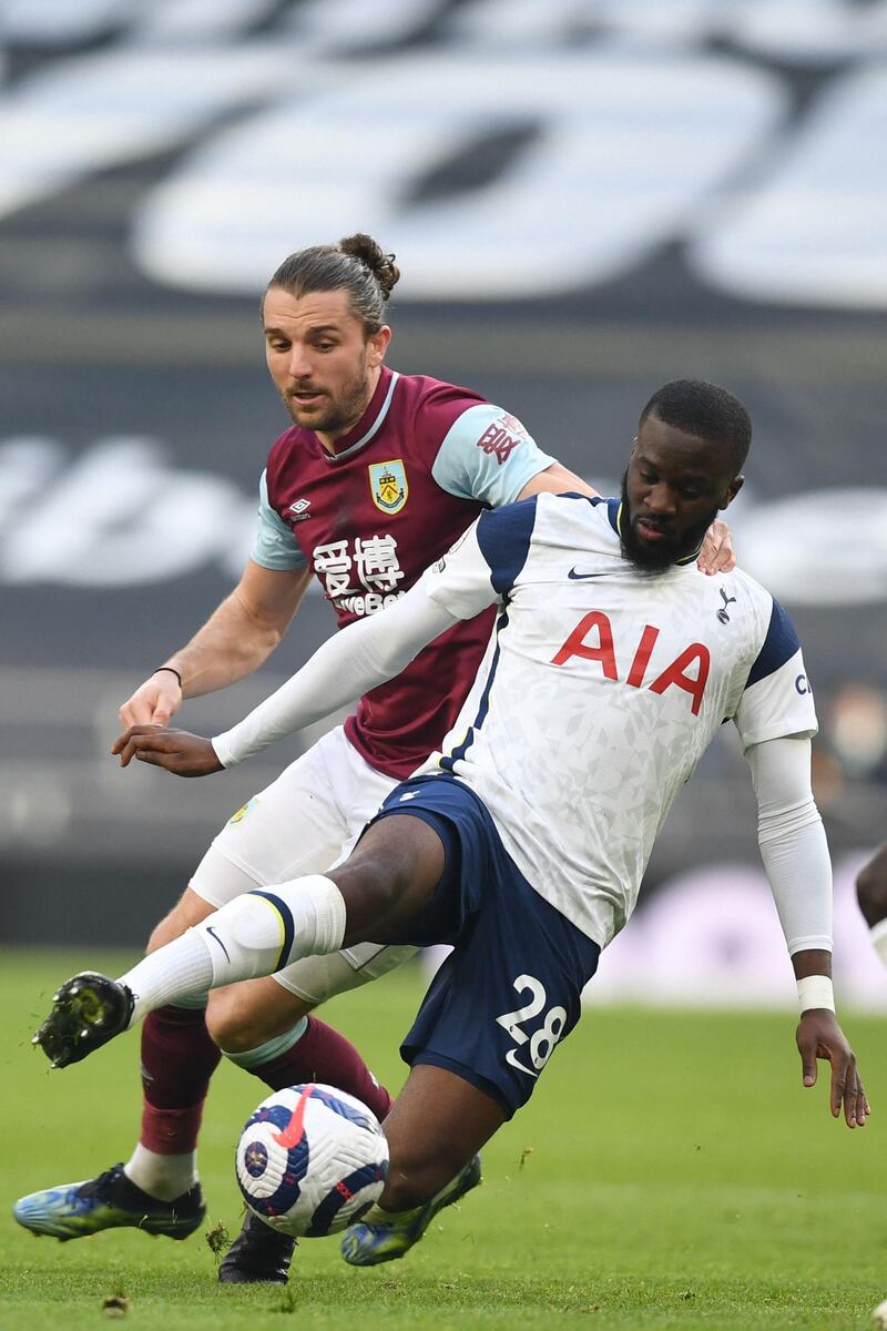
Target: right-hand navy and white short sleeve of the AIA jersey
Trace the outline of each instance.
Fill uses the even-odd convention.
[[[817,711],[794,624],[773,602],[767,634],[735,713],[742,748],[797,735],[813,739]]]

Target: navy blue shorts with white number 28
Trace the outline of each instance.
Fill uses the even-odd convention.
[[[511,1118],[578,1021],[600,948],[531,888],[467,785],[414,777],[392,791],[374,823],[398,813],[432,827],[445,852],[434,900],[411,922],[408,941],[453,944],[400,1054],[410,1065],[449,1069]]]

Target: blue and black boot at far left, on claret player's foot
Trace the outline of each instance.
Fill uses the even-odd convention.
[[[12,1214],[32,1234],[51,1234],[63,1243],[124,1227],[186,1239],[206,1207],[199,1183],[172,1202],[160,1202],[126,1178],[122,1165],[113,1165],[98,1178],[31,1193],[16,1202]]]

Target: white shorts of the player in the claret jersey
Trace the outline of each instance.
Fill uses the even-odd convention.
[[[191,892],[218,909],[251,888],[326,873],[348,857],[396,784],[370,767],[336,725],[229,819],[198,864]],[[318,1004],[387,974],[415,952],[359,942],[332,957],[295,961],[274,978]]]

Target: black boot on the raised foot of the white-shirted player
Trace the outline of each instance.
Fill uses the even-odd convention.
[[[31,1044],[40,1045],[53,1067],[78,1063],[126,1030],[133,1006],[126,985],[81,970],[53,994],[52,1012]]]

